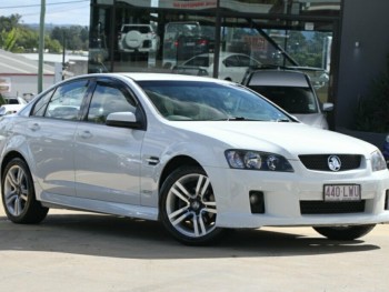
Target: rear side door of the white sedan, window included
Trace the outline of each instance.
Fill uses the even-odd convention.
[[[27,124],[30,164],[43,192],[76,195],[73,138],[88,84],[81,80],[59,85],[32,109]]]

